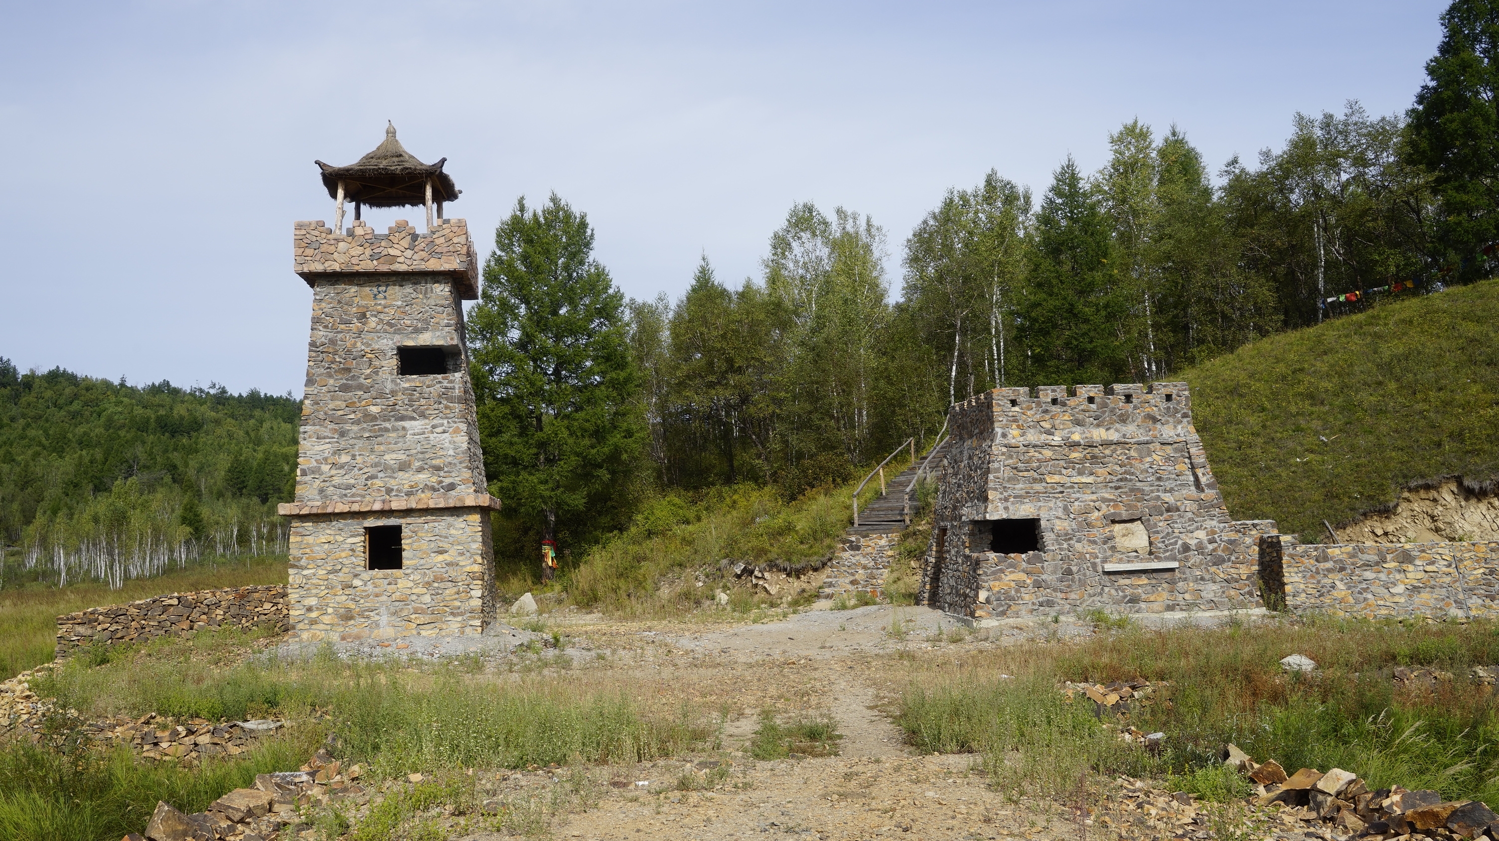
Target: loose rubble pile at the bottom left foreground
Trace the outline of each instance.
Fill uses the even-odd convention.
[[[123,841],[265,841],[300,817],[300,810],[339,801],[367,802],[369,792],[355,783],[360,766],[339,766],[327,748],[301,771],[258,774],[253,789],[235,789],[208,811],[183,814],[157,802],[145,835],[129,834]]]

